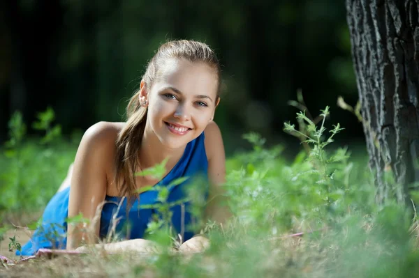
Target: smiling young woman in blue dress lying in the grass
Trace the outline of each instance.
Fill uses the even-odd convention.
[[[182,177],[207,179],[209,183],[202,185],[210,202],[207,217],[222,222],[226,215],[216,196],[225,178],[225,155],[221,132],[212,121],[220,102],[220,83],[219,61],[204,43],[175,40],[161,45],[128,103],[127,121],[96,123],[84,133],[67,178],[71,185],[61,186],[47,204],[41,226],[21,254],[31,255],[39,248],[80,250],[83,243],[97,244],[112,227],[128,236],[101,245],[105,250],[142,251],[151,244],[142,239],[147,224],[159,213],[139,207],[157,203],[156,190],[138,192]],[[135,175],[166,158],[163,179]],[[171,186],[168,201],[184,199],[187,185],[188,180]],[[183,233],[186,249],[202,242],[193,237],[196,231],[188,229],[193,219],[189,206],[171,208],[172,225]],[[91,229],[67,225],[66,217],[74,219],[80,213],[90,220]]]

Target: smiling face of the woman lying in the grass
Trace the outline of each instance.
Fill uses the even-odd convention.
[[[216,72],[205,63],[166,63],[149,91],[142,93],[149,103],[145,132],[153,132],[168,148],[184,147],[212,121],[217,88]]]

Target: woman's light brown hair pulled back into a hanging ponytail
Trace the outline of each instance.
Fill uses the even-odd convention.
[[[161,69],[169,59],[184,59],[190,62],[203,62],[214,68],[218,77],[217,99],[221,88],[221,68],[214,51],[205,43],[193,40],[172,40],[161,45],[147,65],[142,80],[146,88],[152,87]],[[140,89],[134,93],[126,107],[127,121],[119,132],[116,141],[115,179],[119,194],[135,199],[138,195],[135,186],[135,171],[140,165],[138,153],[147,120],[147,107],[140,105]]]

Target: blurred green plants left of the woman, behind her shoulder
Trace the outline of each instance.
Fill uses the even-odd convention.
[[[32,127],[43,136],[30,139],[20,111],[10,118],[9,140],[0,148],[0,226],[6,216],[24,221],[24,215],[37,213],[66,176],[81,137],[77,143],[65,139],[53,120],[52,109],[39,113]]]

